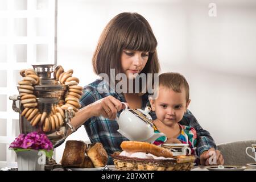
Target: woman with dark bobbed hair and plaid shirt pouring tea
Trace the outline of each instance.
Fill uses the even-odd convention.
[[[94,72],[101,78],[84,87],[80,100],[82,109],[76,113],[71,124],[75,128],[84,125],[91,142],[101,142],[108,154],[120,151],[121,142],[127,140],[117,132],[118,124],[114,120],[118,111],[124,108],[121,102],[127,102],[131,109],[150,106],[148,94],[142,93],[145,88],[139,88],[141,93],[130,93],[129,84],[127,92],[117,92],[115,86],[118,81],[113,78],[113,71],[114,75],[125,74],[127,80],[121,80],[130,81],[133,85],[135,77],[142,73],[158,73],[160,67],[156,46],[150,24],[137,13],[118,14],[110,20],[100,36],[92,63]],[[154,82],[154,78],[152,80]],[[151,115],[154,119],[153,112]],[[186,113],[183,122],[199,133],[199,154],[216,147],[208,131],[201,128],[192,113]],[[220,156],[218,152],[217,155]],[[208,158],[204,153],[201,162],[205,164]]]

